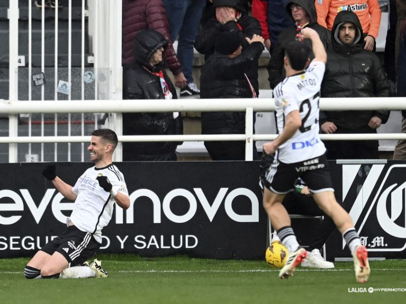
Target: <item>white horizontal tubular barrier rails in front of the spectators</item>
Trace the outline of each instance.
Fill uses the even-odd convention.
[[[232,102],[230,102],[232,101]],[[252,160],[254,140],[272,140],[275,134],[252,134],[253,112],[273,111],[273,99],[177,99],[177,100],[71,100],[71,101],[11,101],[0,102],[0,113],[10,116],[18,113],[84,113],[84,112],[159,112],[159,111],[245,111],[245,134],[219,135],[139,135],[123,136],[118,132],[119,141],[205,141],[205,140],[245,140],[246,160]],[[321,98],[321,110],[402,110],[406,109],[406,98]],[[109,128],[121,130],[121,115],[109,120]],[[400,130],[399,130],[400,131]],[[323,134],[323,140],[370,140],[406,139],[406,134]],[[89,136],[8,136],[0,137],[0,143],[74,143],[88,142]],[[115,161],[121,161],[118,155]],[[10,162],[16,160],[10,159]]]

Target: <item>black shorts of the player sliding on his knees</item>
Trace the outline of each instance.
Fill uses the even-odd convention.
[[[41,250],[50,255],[55,251],[59,252],[72,267],[85,262],[99,248],[100,244],[96,242],[91,233],[83,232],[75,226],[69,226],[62,235],[48,242]]]

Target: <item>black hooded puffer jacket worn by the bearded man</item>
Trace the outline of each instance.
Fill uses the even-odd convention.
[[[357,28],[356,39],[350,46],[339,39],[340,26],[346,22]],[[364,50],[361,24],[352,11],[337,14],[331,30],[332,48],[327,52],[327,65],[321,86],[321,97],[389,97],[390,87],[376,54]],[[382,100],[384,102],[384,99]],[[324,111],[320,125],[326,121],[337,127],[359,129],[376,116],[386,123],[390,111]]]

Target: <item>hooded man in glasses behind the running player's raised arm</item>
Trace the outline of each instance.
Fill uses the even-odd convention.
[[[331,45],[330,31],[317,23],[316,8],[312,0],[289,1],[286,5],[286,10],[295,24],[280,33],[277,43],[274,46],[272,56],[270,56],[267,68],[269,73],[269,86],[271,89],[274,89],[277,84],[285,79],[285,71],[283,69],[285,49],[290,42],[296,40],[298,28],[310,27],[314,29],[319,34],[325,49],[328,49]],[[308,44],[311,48],[312,43],[310,40],[305,39],[304,43]],[[311,59],[313,59],[313,56],[314,55],[311,54]]]

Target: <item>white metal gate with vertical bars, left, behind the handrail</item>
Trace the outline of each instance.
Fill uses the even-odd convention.
[[[59,3],[62,1],[59,0]],[[25,4],[9,0],[9,94],[1,92],[0,98],[10,100],[45,100],[59,103],[61,100],[121,99],[121,13],[122,2],[116,0],[72,0],[63,1],[63,8],[45,8],[46,1],[38,0],[42,7],[36,8],[34,1]],[[56,1],[58,6],[58,1]],[[33,85],[33,76],[40,74],[42,84]],[[92,75],[90,80],[87,74]],[[63,83],[66,90],[60,91]],[[3,97],[8,96],[8,97]],[[59,99],[59,100],[58,100]],[[66,108],[69,108],[66,107]],[[60,135],[85,136],[90,129],[97,128],[104,113],[70,111],[32,115],[29,111],[18,111],[0,116],[0,133],[10,138],[21,135],[35,137]],[[93,126],[91,126],[93,125]],[[121,128],[121,126],[116,126]],[[4,139],[4,138],[3,138]],[[44,161],[84,161],[83,143],[71,146],[44,142],[32,145],[10,143],[7,156],[9,162],[25,158]],[[44,156],[44,149],[46,155]],[[81,153],[82,151],[82,153]],[[35,157],[31,157],[31,156]],[[75,155],[71,159],[71,155]],[[6,151],[0,146],[0,162],[5,162]]]

